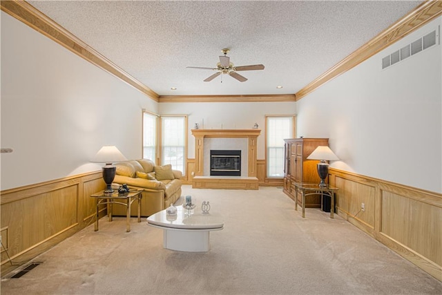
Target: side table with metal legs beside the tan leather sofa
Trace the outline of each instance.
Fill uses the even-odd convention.
[[[138,220],[137,222],[141,222],[141,199],[142,199],[142,190],[134,190],[129,191],[128,193],[122,195],[117,191],[113,193],[104,193],[104,191],[99,191],[98,193],[94,193],[90,195],[92,198],[97,198],[97,220],[95,221],[95,231],[98,231],[98,213],[99,213],[99,205],[107,204],[108,217],[109,221],[112,221],[112,207],[113,204],[122,204],[126,206],[126,231],[131,231],[131,204],[138,200]],[[121,202],[126,201],[126,202]]]

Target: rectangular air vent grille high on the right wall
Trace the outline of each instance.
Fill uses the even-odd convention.
[[[382,68],[388,68],[399,61],[403,61],[404,59],[415,55],[416,53],[420,53],[422,50],[430,48],[436,44],[441,44],[440,40],[441,35],[441,26],[429,34],[417,39],[416,41],[404,46],[400,50],[396,50],[394,53],[383,57],[382,59]]]

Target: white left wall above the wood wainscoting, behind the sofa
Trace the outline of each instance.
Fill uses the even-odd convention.
[[[135,88],[1,12],[1,187],[10,189],[101,169],[103,145],[142,157]]]

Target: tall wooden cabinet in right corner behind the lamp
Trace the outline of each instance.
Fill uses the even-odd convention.
[[[317,146],[328,146],[328,138],[290,138],[285,142],[284,187],[283,191],[291,199],[301,204],[301,194],[296,196],[294,182],[319,183],[316,169],[318,160],[307,160],[307,157]],[[309,196],[305,200],[305,207],[320,208],[320,196]]]

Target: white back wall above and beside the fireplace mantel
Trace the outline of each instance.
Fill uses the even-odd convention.
[[[195,123],[200,129],[252,129],[258,123],[258,159],[265,158],[265,115],[294,115],[295,102],[198,102],[162,103],[162,115],[189,115],[188,158],[195,158],[195,137],[191,133]],[[204,120],[204,126],[203,126]]]

